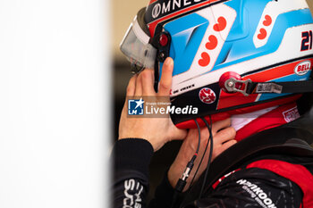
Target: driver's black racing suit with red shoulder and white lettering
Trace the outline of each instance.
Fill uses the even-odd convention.
[[[199,197],[201,176],[174,207],[313,207],[313,154],[308,146],[312,138],[311,132],[288,126],[246,138],[212,162],[203,196]],[[257,147],[249,148],[251,144]],[[173,188],[166,177],[155,198],[146,202],[153,155],[146,140],[120,140],[114,155],[114,207],[171,207]]]

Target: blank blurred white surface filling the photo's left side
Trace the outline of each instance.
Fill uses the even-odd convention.
[[[107,2],[0,0],[0,207],[108,207]]]

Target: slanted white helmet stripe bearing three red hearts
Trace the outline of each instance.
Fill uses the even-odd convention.
[[[215,18],[213,10],[216,10],[218,12],[217,15],[219,15],[219,17],[217,18],[217,20]],[[175,91],[180,87],[189,86],[188,84],[186,85],[186,80],[196,80],[197,78],[202,79],[202,74],[207,73],[208,71],[211,71],[213,69],[216,63],[216,59],[220,54],[222,47],[224,46],[225,38],[223,37],[228,36],[230,30],[232,29],[233,21],[236,19],[236,11],[234,11],[233,8],[225,4],[216,4],[211,7],[207,7],[206,9],[200,10],[196,13],[207,19],[209,25],[201,41],[201,44],[199,45],[198,52],[195,55],[195,58],[190,66],[190,70],[183,72],[182,74],[175,75],[173,77],[172,91]],[[211,44],[211,46],[207,47],[207,44]],[[192,81],[189,83],[195,84]],[[210,82],[208,82],[207,80],[205,85],[207,85],[207,83]],[[190,88],[190,90],[191,89],[193,88]],[[184,91],[184,93],[185,92],[187,91]],[[176,94],[175,96],[178,95],[179,94]]]

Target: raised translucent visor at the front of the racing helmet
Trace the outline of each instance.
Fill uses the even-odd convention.
[[[150,37],[140,28],[137,17],[131,23],[120,46],[127,59],[142,69],[154,69],[157,48],[149,44]]]

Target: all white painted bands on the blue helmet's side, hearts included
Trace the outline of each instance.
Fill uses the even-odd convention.
[[[286,3],[286,1],[288,3]],[[279,14],[284,12],[291,12],[300,9],[309,8],[305,0],[285,0],[285,1],[271,1],[266,5],[266,9],[262,16],[259,18],[258,28],[255,31],[253,37],[253,43],[256,48],[266,46],[268,37],[275,26],[275,21]],[[225,4],[216,4],[209,8],[200,10],[197,12],[202,17],[209,21],[207,32],[202,39],[198,52],[191,64],[190,70],[173,77],[172,96],[179,96],[193,89],[204,87],[212,83],[218,82],[219,78],[227,71],[236,71],[239,74],[247,73],[250,71],[256,71],[266,66],[273,65],[277,62],[285,62],[295,58],[300,58],[306,55],[311,55],[312,50],[301,51],[300,46],[302,44],[302,32],[313,30],[313,24],[307,24],[297,27],[289,28],[283,35],[283,40],[278,49],[272,54],[266,54],[254,59],[250,59],[245,62],[237,62],[236,64],[226,66],[222,69],[212,71],[215,66],[216,59],[224,46],[224,41],[228,37],[230,30],[233,26],[237,14],[233,8]],[[266,37],[258,38],[262,35],[262,26],[269,23],[269,16],[271,18],[271,24],[266,28]],[[226,25],[224,26],[224,20],[222,17],[226,17]],[[216,31],[215,26],[219,25],[221,31]],[[224,26],[224,29],[223,29]],[[218,30],[217,26],[216,29]],[[213,50],[207,50],[206,44],[215,36],[217,38],[217,46]],[[209,54],[209,62],[207,59]],[[202,65],[203,66],[202,66]],[[209,73],[208,73],[209,72]],[[299,79],[300,80],[300,79]],[[253,80],[252,80],[253,81]],[[181,90],[184,89],[184,90]]]

